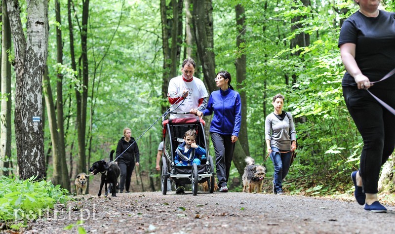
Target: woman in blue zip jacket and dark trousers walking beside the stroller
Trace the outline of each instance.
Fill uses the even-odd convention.
[[[211,93],[205,110],[198,111],[200,117],[213,114],[210,135],[215,150],[218,186],[220,192],[228,192],[229,171],[231,169],[235,142],[241,124],[240,95],[231,85],[231,74],[217,73],[214,79],[220,89]]]

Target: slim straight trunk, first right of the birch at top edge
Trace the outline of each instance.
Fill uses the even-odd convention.
[[[55,14],[56,22],[62,25],[60,15],[60,3],[59,0],[55,0]],[[56,27],[56,61],[58,64],[63,64],[63,43],[62,43],[62,31],[59,27]],[[69,171],[67,169],[66,162],[66,143],[65,143],[65,130],[64,130],[64,113],[63,113],[63,74],[57,73],[56,80],[56,111],[57,111],[57,125],[58,130],[58,157],[61,165],[61,184],[62,188],[70,191],[70,178]],[[59,181],[60,182],[60,181]]]

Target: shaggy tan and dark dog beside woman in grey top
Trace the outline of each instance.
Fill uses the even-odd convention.
[[[255,187],[257,187],[257,193],[262,192],[262,183],[265,179],[266,168],[261,165],[255,165],[255,160],[252,157],[246,157],[245,162],[247,165],[244,168],[243,180],[243,193],[253,193]]]

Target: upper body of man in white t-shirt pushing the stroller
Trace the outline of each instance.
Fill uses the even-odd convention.
[[[197,111],[207,106],[207,89],[201,79],[194,77],[196,63],[189,58],[182,63],[182,75],[172,78],[169,82],[167,97],[171,104],[170,112],[190,112],[188,115],[170,114],[170,118],[195,117]],[[182,101],[185,101],[182,103]],[[181,104],[182,103],[182,104]],[[181,105],[180,105],[181,104]]]

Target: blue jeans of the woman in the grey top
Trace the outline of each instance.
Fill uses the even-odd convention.
[[[276,147],[272,147],[272,153],[270,154],[270,158],[273,161],[273,166],[275,167],[275,190],[278,192],[282,192],[282,180],[287,176],[289,167],[291,166],[291,152],[288,153],[279,153],[285,152],[287,150],[279,150]]]

